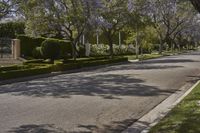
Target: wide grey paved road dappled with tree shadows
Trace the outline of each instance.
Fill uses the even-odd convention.
[[[118,133],[199,66],[196,52],[0,86],[0,133]]]

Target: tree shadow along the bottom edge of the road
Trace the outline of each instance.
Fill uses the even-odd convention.
[[[96,125],[78,125],[75,131],[66,131],[56,127],[54,124],[30,124],[14,127],[8,130],[7,133],[120,133],[136,121],[136,119],[114,121],[110,125],[103,125],[102,127],[97,127]]]

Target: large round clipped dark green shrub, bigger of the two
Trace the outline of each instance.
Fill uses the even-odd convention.
[[[60,49],[58,40],[47,39],[42,43],[42,55],[46,59],[51,59],[51,61],[59,57]]]

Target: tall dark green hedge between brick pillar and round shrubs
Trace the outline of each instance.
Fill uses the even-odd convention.
[[[22,57],[32,57],[33,50],[40,47],[42,42],[46,40],[43,37],[35,38],[26,35],[19,35],[17,38],[20,39]]]

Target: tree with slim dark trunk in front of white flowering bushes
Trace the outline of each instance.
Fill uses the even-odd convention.
[[[102,0],[103,8],[98,17],[98,26],[103,30],[108,40],[110,56],[113,57],[113,38],[117,32],[127,24],[128,1],[127,0]]]

